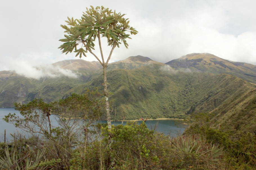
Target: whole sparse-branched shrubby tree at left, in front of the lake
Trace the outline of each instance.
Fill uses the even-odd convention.
[[[101,139],[97,122],[102,118],[103,105],[102,92],[86,90],[82,95],[71,94],[58,102],[45,103],[42,99],[34,99],[27,104],[14,103],[20,114],[9,113],[3,120],[27,132],[29,139],[25,142],[29,141],[36,147],[44,145],[45,157],[61,159],[58,166],[66,167],[74,148],[79,144],[89,146],[90,142]],[[21,139],[20,136],[19,142]]]

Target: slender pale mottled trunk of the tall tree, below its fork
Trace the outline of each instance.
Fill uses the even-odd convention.
[[[109,101],[108,101],[108,93],[107,93],[107,66],[103,66],[103,80],[104,80],[104,96],[106,102],[106,111],[107,111],[107,127],[111,129],[111,117],[109,110]]]

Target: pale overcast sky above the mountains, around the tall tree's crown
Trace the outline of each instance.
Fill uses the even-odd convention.
[[[112,62],[142,55],[165,63],[188,53],[208,52],[256,64],[255,0],[1,0],[0,70],[79,59],[58,49],[58,40],[64,38],[60,24],[68,16],[80,18],[90,5],[127,14],[139,31],[128,41],[128,50],[124,46],[114,50]],[[109,47],[103,50],[107,56]],[[87,54],[82,59],[95,60]]]

